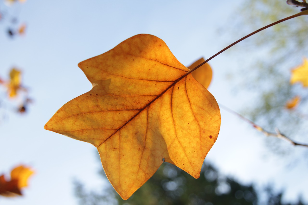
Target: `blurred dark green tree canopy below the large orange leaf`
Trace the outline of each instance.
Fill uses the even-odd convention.
[[[107,181],[105,172],[100,175]],[[180,168],[163,163],[156,173],[128,200],[123,200],[111,184],[101,192],[87,191],[84,185],[75,181],[75,195],[80,205],[257,205],[284,204],[283,193],[274,193],[268,187],[258,192],[253,185],[243,185],[221,175],[216,168],[204,163],[199,179],[194,179]],[[292,205],[304,204],[301,199]]]

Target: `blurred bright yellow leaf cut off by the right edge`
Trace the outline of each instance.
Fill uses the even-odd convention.
[[[291,71],[290,83],[301,82],[303,86],[308,87],[308,59],[304,58],[302,65],[294,68]]]

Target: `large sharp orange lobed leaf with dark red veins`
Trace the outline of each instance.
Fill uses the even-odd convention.
[[[67,102],[45,129],[97,147],[123,199],[163,161],[199,178],[219,133],[219,107],[164,41],[139,34],[78,66],[92,90]]]

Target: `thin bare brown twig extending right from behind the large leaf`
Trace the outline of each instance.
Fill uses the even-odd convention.
[[[225,111],[228,111],[229,113],[233,114],[233,115],[236,115],[238,116],[239,118],[241,118],[242,120],[244,120],[245,122],[251,124],[257,131],[263,133],[263,135],[267,136],[267,137],[277,137],[277,138],[280,138],[280,139],[284,139],[285,141],[289,142],[290,144],[292,145],[299,145],[299,146],[304,146],[304,147],[308,147],[308,144],[303,144],[303,143],[297,143],[297,142],[294,142],[292,139],[286,137],[286,135],[283,135],[280,133],[280,131],[278,130],[278,128],[275,128],[275,131],[276,133],[274,132],[268,132],[268,131],[265,131],[262,127],[258,126],[256,123],[254,123],[253,121],[245,118],[243,115],[231,110],[230,108],[222,105],[219,103],[219,107],[224,109]]]

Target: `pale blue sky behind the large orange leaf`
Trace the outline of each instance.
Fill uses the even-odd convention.
[[[45,123],[63,104],[91,90],[91,83],[77,66],[79,62],[133,35],[146,33],[164,40],[175,57],[188,66],[242,37],[235,36],[229,26],[240,15],[237,7],[242,2],[28,0],[12,7],[1,2],[1,9],[17,14],[27,27],[24,36],[10,38],[7,23],[0,22],[0,76],[7,78],[14,66],[21,69],[22,84],[29,88],[34,103],[24,115],[15,113],[10,101],[1,104],[0,174],[25,164],[35,170],[35,175],[24,196],[0,197],[0,204],[74,205],[74,179],[87,187],[103,186],[97,174],[101,163],[95,147],[44,130]],[[236,82],[230,83],[226,76],[237,72],[243,58],[253,59],[253,55],[231,52],[209,62],[213,69],[209,91],[218,103],[241,111],[245,103],[252,103],[250,95],[235,96],[230,85]],[[5,98],[4,90],[1,98]],[[265,146],[265,136],[250,125],[223,109],[221,118],[220,134],[206,161],[241,183],[254,183],[260,189],[273,184],[276,191],[285,190],[285,201],[302,195],[308,203],[307,160],[286,160],[285,155],[273,154]],[[289,146],[290,153],[307,149],[282,144]]]

